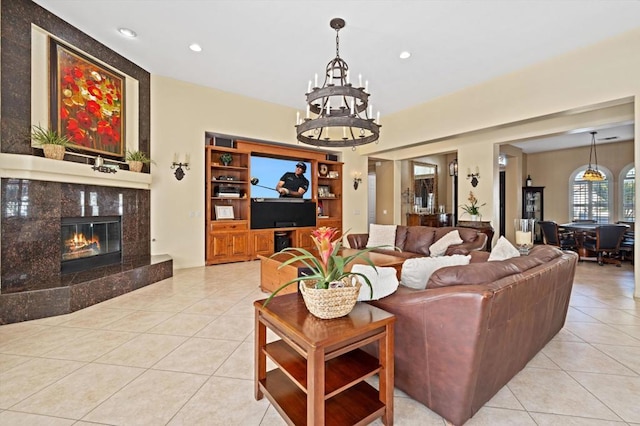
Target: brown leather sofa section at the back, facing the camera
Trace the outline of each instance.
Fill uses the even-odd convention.
[[[398,225],[396,228],[396,247],[392,249],[375,249],[373,251],[384,254],[391,254],[398,257],[420,257],[429,256],[429,247],[440,238],[447,235],[454,229],[458,234],[462,244],[449,246],[445,254],[469,254],[474,250],[484,250],[487,245],[487,236],[476,229],[447,226],[435,228],[432,226],[404,226]],[[363,249],[367,246],[369,234],[347,234],[349,247],[353,249]]]

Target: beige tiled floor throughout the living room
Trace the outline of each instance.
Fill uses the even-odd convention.
[[[467,425],[640,424],[632,268],[579,264],[565,328]],[[284,424],[253,397],[258,275],[258,262],[179,270],[0,327],[0,425]],[[445,424],[397,390],[395,423]]]

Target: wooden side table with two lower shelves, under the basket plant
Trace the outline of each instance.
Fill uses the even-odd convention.
[[[299,294],[255,307],[255,397],[293,425],[393,425],[395,316],[356,303],[347,316],[314,317]],[[267,343],[267,328],[281,339]],[[378,341],[379,358],[360,349]],[[267,371],[267,357],[277,366]],[[365,379],[379,374],[379,390]]]

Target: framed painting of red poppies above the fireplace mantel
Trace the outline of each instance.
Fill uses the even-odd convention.
[[[124,157],[124,76],[51,39],[51,122],[77,151]]]

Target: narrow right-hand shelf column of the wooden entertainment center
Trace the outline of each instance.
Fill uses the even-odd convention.
[[[342,163],[318,162],[318,226],[342,229]]]

